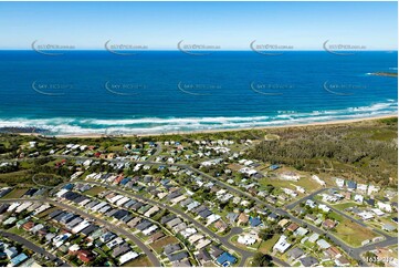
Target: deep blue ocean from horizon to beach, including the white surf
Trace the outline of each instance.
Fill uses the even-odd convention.
[[[0,52],[0,127],[164,133],[397,113],[397,52]]]

